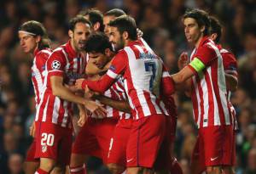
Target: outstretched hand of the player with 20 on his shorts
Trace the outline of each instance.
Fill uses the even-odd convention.
[[[97,104],[94,101],[86,100],[84,106],[86,109],[89,109],[89,111],[95,115],[100,115],[103,117],[107,116],[107,110],[102,107],[102,104]]]

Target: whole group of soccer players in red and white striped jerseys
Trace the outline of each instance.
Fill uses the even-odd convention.
[[[187,11],[183,24],[195,49],[190,59],[181,54],[172,76],[121,9],[82,11],[69,21],[70,40],[54,51],[41,23],[21,25],[37,101],[26,173],[84,174],[89,156],[114,174],[183,173],[172,152],[176,90],[191,97],[199,129],[191,173],[234,173],[236,115],[228,95],[237,86],[236,59],[218,45],[221,25],[205,11]],[[80,126],[74,141],[73,124]]]

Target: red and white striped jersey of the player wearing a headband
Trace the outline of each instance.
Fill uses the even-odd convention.
[[[42,50],[36,49],[34,52],[34,59],[32,65],[32,84],[34,87],[36,108],[40,102],[40,94],[42,93],[44,76],[45,76],[45,63],[49,58],[51,50],[44,48]]]

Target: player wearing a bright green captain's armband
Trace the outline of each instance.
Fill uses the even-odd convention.
[[[226,98],[224,65],[217,45],[210,40],[208,14],[200,9],[187,11],[183,16],[184,33],[195,46],[190,63],[172,76],[175,84],[187,83],[195,122],[199,128],[194,152],[207,173],[232,173],[235,149],[233,122]],[[192,164],[193,157],[192,155]]]

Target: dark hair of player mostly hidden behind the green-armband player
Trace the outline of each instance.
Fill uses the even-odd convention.
[[[216,33],[217,37],[215,39],[215,42],[218,43],[222,35],[222,25],[219,23],[218,19],[215,18],[214,16],[210,16],[209,19],[210,19],[209,34],[212,35],[213,33]]]

